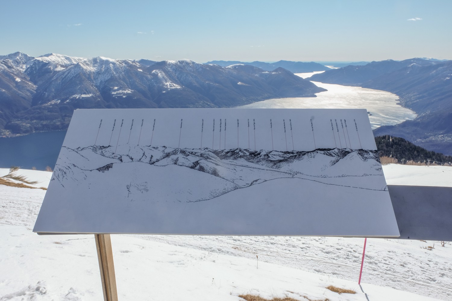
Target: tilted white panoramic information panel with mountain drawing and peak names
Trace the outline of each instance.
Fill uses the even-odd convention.
[[[34,232],[399,236],[366,110],[76,110]]]

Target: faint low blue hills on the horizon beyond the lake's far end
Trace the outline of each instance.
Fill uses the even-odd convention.
[[[210,62],[207,62],[206,65],[219,65],[222,67],[227,67],[230,65],[251,65],[254,67],[261,68],[266,71],[272,71],[276,68],[284,68],[289,70],[292,73],[303,73],[303,72],[314,72],[314,71],[325,71],[330,70],[330,68],[325,67],[324,65],[321,65],[319,63],[315,62],[292,62],[288,60],[280,60],[275,63],[264,63],[259,61],[254,62],[240,62],[236,60],[212,60]]]

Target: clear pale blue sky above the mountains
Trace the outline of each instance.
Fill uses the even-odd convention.
[[[242,61],[452,59],[452,1],[1,2],[0,55]]]

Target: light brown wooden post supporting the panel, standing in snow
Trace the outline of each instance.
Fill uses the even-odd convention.
[[[110,234],[94,234],[104,301],[118,301]]]

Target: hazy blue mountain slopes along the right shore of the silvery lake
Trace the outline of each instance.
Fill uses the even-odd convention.
[[[375,135],[402,137],[435,152],[452,154],[452,61],[414,58],[372,62],[315,74],[325,83],[358,85],[389,91],[418,114],[400,125],[382,126]]]

